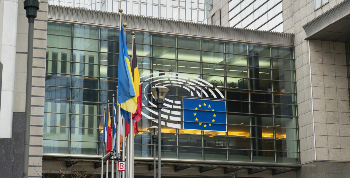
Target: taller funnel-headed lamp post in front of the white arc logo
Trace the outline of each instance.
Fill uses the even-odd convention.
[[[161,142],[162,142],[162,136],[161,136],[161,110],[163,108],[165,96],[170,91],[167,87],[164,86],[155,86],[151,90],[152,95],[154,96],[154,100],[157,104],[158,109],[158,177],[161,178]]]

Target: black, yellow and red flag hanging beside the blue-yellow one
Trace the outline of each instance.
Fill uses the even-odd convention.
[[[132,62],[131,73],[132,73],[132,77],[134,78],[134,89],[137,97],[137,108],[136,108],[135,114],[132,115],[132,118],[136,122],[139,122],[141,119],[142,97],[141,97],[141,82],[140,82],[140,75],[139,75],[139,67],[137,65],[137,57],[136,57],[135,38],[134,38],[134,46],[133,46],[133,54],[132,54],[131,62]]]

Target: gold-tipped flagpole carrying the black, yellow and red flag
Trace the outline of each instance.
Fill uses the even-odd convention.
[[[134,37],[135,37],[135,33],[132,32],[132,47],[131,47],[131,54],[133,53],[134,50]],[[136,56],[130,55],[130,63],[132,64],[133,58]],[[132,119],[132,113],[130,113],[130,147],[129,147],[129,151],[130,151],[130,178],[134,178],[134,121]]]

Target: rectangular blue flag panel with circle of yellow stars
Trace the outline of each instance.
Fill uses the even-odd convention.
[[[226,132],[226,101],[183,98],[183,129]]]

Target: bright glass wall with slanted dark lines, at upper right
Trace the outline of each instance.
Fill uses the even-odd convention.
[[[282,1],[229,1],[230,27],[283,32]]]

